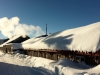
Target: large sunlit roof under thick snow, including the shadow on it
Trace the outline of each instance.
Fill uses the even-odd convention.
[[[100,22],[29,39],[24,48],[95,52],[100,49]]]

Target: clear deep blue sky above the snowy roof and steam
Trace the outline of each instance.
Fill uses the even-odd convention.
[[[100,0],[0,0],[0,18],[15,16],[53,33],[100,21]]]

